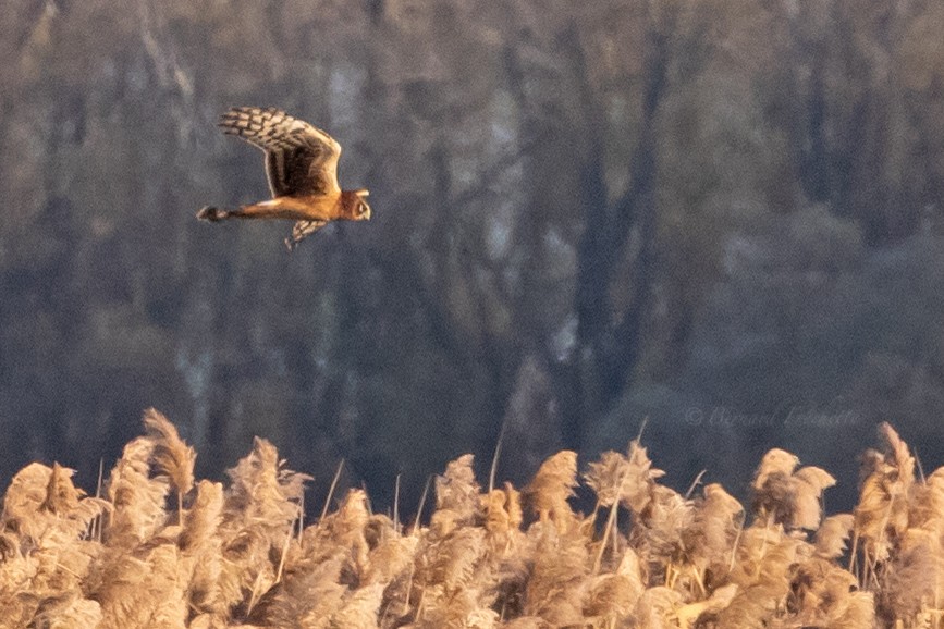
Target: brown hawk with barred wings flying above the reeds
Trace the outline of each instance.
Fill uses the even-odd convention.
[[[206,206],[201,221],[287,219],[295,221],[285,238],[289,250],[331,221],[370,219],[365,188],[342,190],[338,184],[341,145],[320,128],[284,111],[234,107],[220,118],[223,133],[237,135],[266,152],[272,199],[236,209]]]

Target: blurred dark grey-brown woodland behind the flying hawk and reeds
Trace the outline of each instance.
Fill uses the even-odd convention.
[[[682,489],[781,446],[849,499],[880,420],[944,462],[940,1],[8,4],[4,485],[94,488],[147,406],[204,474],[258,434],[381,507],[503,425],[517,482],[643,419]],[[196,222],[267,195],[236,104],[328,130],[373,219]]]

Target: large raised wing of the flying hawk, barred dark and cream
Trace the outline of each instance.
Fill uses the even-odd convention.
[[[237,135],[266,151],[272,196],[340,192],[341,145],[330,135],[284,111],[234,107],[220,119],[223,133]]]

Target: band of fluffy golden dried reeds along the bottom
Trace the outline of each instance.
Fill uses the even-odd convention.
[[[3,497],[0,628],[942,628],[944,468],[915,476],[888,425],[851,514],[823,519],[835,483],[772,449],[751,507],[719,484],[661,485],[639,442],[583,474],[561,452],[524,492],[482,490],[470,455],[436,478],[429,525],[403,529],[351,490],[302,526],[308,477],[257,439],[226,486],[144,416],[103,498],[34,462]],[[528,510],[523,509],[523,501]]]

